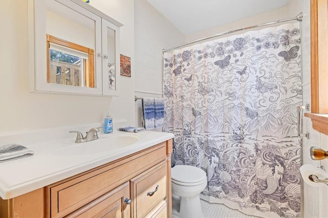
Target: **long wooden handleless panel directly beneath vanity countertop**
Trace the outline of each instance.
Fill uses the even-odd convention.
[[[46,216],[61,217],[166,160],[166,143],[46,187]],[[48,204],[47,204],[48,203]]]

